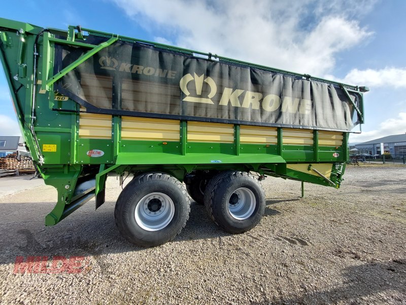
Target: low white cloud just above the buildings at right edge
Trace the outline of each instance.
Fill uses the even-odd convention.
[[[406,133],[406,112],[400,112],[397,117],[381,122],[376,130],[362,132],[361,134],[351,134],[350,142],[366,142],[404,133]]]

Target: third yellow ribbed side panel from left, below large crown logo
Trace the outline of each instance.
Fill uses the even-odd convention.
[[[234,142],[234,125],[188,121],[188,142]]]

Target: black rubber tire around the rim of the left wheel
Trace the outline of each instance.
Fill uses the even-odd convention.
[[[139,201],[149,193],[159,192],[169,196],[175,205],[172,221],[158,231],[147,231],[135,218]],[[174,239],[189,219],[190,199],[184,185],[175,177],[163,173],[147,173],[134,177],[121,192],[114,210],[120,234],[129,242],[141,247],[155,247]]]

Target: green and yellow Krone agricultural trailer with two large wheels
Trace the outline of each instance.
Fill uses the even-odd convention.
[[[181,232],[189,195],[242,233],[264,213],[265,175],[339,188],[364,120],[367,87],[211,53],[3,18],[0,41],[25,145],[58,192],[45,224],[132,174],[115,221],[139,246]]]

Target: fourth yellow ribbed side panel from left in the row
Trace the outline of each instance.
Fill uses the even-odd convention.
[[[240,143],[244,144],[277,144],[276,127],[240,126]]]

